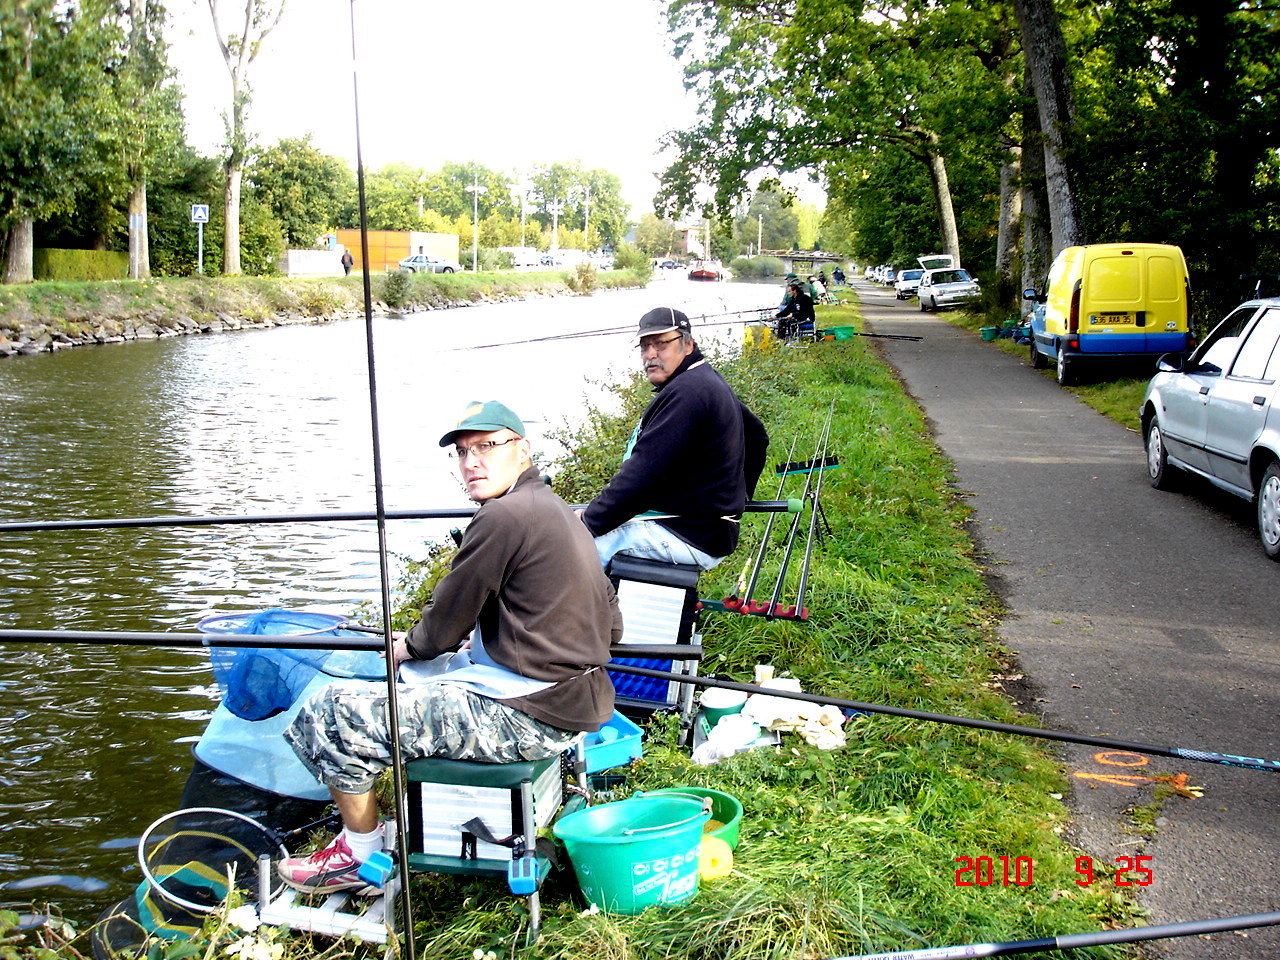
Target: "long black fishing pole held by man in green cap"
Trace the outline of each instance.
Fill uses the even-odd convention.
[[[361,636],[315,636],[300,634],[284,634],[278,636],[266,634],[141,634],[101,630],[0,630],[0,644],[77,644],[97,646],[119,645],[173,648],[260,646],[283,650],[383,650],[383,644],[380,641]],[[689,653],[687,644],[682,644],[677,649],[681,653]],[[667,654],[664,655],[666,659],[673,659],[669,655],[669,645],[649,648],[644,645],[621,644],[613,648],[612,653],[618,657],[630,657],[635,653],[653,653],[654,657]],[[973,717],[952,717],[945,713],[913,710],[906,707],[888,707],[886,704],[864,703],[861,700],[846,700],[838,696],[805,694],[796,690],[776,690],[773,687],[758,686],[754,684],[740,684],[735,680],[690,676],[687,673],[673,673],[671,671],[634,667],[631,664],[622,663],[609,663],[609,669],[618,673],[634,673],[637,677],[671,680],[677,684],[691,684],[694,686],[723,687],[724,690],[737,690],[744,694],[764,694],[765,696],[778,696],[787,700],[801,700],[804,703],[847,708],[861,713],[883,713],[890,717],[904,717],[906,719],[919,719],[931,723],[948,723],[957,727],[988,730],[995,733],[1011,733],[1014,736],[1037,737],[1041,740],[1059,740],[1068,744],[1101,746],[1107,750],[1128,750],[1135,754],[1151,754],[1152,756],[1170,756],[1176,760],[1196,760],[1198,763],[1215,763],[1226,767],[1242,767],[1244,769],[1280,773],[1280,760],[1265,760],[1257,756],[1238,756],[1235,754],[1221,754],[1211,750],[1197,750],[1185,746],[1153,746],[1151,744],[1138,744],[1128,740],[1117,740],[1115,737],[1094,737],[1083,733],[1066,733],[1057,730],[1044,730],[1041,727],[1023,727],[1016,723],[975,719]]]

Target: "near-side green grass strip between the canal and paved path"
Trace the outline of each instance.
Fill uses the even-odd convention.
[[[847,306],[819,310],[819,325],[856,316]],[[1034,722],[1001,690],[1011,664],[993,634],[1000,604],[964,531],[966,511],[951,490],[948,463],[873,342],[765,349],[719,366],[765,421],[771,463],[813,456],[831,410],[826,453],[840,467],[823,475],[831,529],[813,554],[808,622],[705,614],[704,672],[750,681],[755,664],[771,663],[812,692]],[[648,399],[636,381],[618,396],[617,415],[591,412],[561,430],[573,456],[559,465],[556,485],[570,502],[588,499],[612,472]],[[756,494],[777,489],[767,474]],[[703,596],[732,591],[764,525],[762,516],[745,521],[737,554],[703,577]],[[778,568],[782,526],[774,525],[767,553],[767,584]],[[794,600],[795,589],[792,579],[783,602]],[[1076,886],[1076,851],[1061,837],[1066,780],[1041,741],[882,716],[855,718],[846,733],[846,745],[832,751],[785,735],[781,750],[695,767],[669,724],[654,724],[645,756],[627,769],[626,790],[696,785],[737,796],[745,817],[730,877],[704,884],[689,905],[639,916],[584,913],[572,883],[553,878],[543,890],[541,938],[531,948],[522,948],[525,901],[506,884],[420,877],[421,955],[814,960],[1048,937],[1132,919],[1110,883]],[[956,859],[983,856],[992,858],[995,882],[957,886]],[[1029,859],[1025,883],[1002,882],[1002,856]],[[236,936],[221,931],[210,943],[189,945],[189,955],[220,955]],[[274,938],[291,960],[379,952],[351,942],[262,938]]]

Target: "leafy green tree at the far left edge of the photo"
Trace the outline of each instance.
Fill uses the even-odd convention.
[[[70,210],[105,175],[99,118],[119,33],[102,0],[4,0],[0,20],[0,248],[5,283],[29,283],[37,218]]]

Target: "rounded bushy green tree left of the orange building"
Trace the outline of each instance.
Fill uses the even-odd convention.
[[[294,248],[314,247],[317,237],[338,224],[340,211],[355,204],[351,168],[316,150],[310,134],[256,151],[244,178],[283,227],[285,244]]]

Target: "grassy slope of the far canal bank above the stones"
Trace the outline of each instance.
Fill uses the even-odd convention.
[[[570,274],[379,274],[371,292],[381,312],[434,310],[492,300],[571,293]],[[595,289],[643,285],[625,270],[599,273]],[[0,285],[0,334],[41,330],[88,337],[104,321],[143,321],[179,330],[219,316],[248,323],[273,317],[334,319],[364,311],[364,283],[351,276],[209,276],[152,280],[40,282]]]

